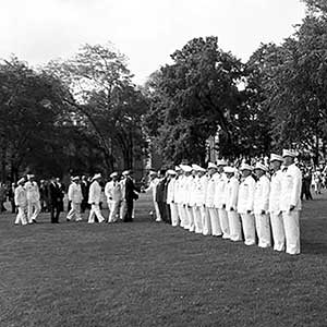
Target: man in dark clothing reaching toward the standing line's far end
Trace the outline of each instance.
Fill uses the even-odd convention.
[[[122,173],[122,175],[124,177],[124,180],[122,181],[123,183],[123,190],[124,190],[124,194],[123,194],[123,199],[125,202],[125,213],[123,216],[123,221],[124,222],[130,222],[133,221],[133,207],[134,207],[134,199],[138,198],[138,194],[141,191],[135,186],[134,181],[131,177],[132,171],[131,170],[126,170]]]

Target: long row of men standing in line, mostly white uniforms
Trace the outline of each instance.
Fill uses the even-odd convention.
[[[243,162],[235,169],[219,160],[207,169],[180,165],[158,177],[153,171],[147,191],[153,190],[156,220],[299,254],[302,173],[295,157],[284,149],[270,155],[270,168]]]

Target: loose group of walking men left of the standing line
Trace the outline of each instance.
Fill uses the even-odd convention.
[[[111,180],[106,184],[105,194],[109,207],[108,222],[117,222],[119,219],[129,222],[133,221],[134,199],[141,192],[134,184],[132,171],[122,172],[122,179],[119,180],[117,172],[111,173]],[[96,173],[90,179],[90,185],[87,192],[87,203],[89,205],[88,223],[94,223],[95,218],[98,222],[106,221],[101,214],[101,181],[100,173]],[[72,177],[68,189],[69,213],[66,220],[82,221],[81,205],[85,199],[83,195],[80,177]],[[49,191],[49,210],[52,223],[59,223],[59,215],[63,211],[64,190],[58,179],[52,178],[48,185]],[[21,178],[17,181],[17,187],[14,191],[14,202],[17,208],[17,215],[14,223],[23,226],[36,223],[37,217],[41,210],[40,192],[34,174],[27,174],[27,180]]]

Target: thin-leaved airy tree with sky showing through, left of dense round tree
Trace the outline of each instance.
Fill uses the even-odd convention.
[[[112,46],[85,45],[48,70],[69,87],[63,100],[97,137],[107,169],[132,168],[146,148],[141,122],[147,102],[131,81],[125,57]]]

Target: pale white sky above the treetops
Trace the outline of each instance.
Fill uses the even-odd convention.
[[[300,0],[0,0],[0,58],[36,65],[111,41],[137,83],[194,37],[218,36],[246,60],[261,43],[290,36],[305,9]]]

